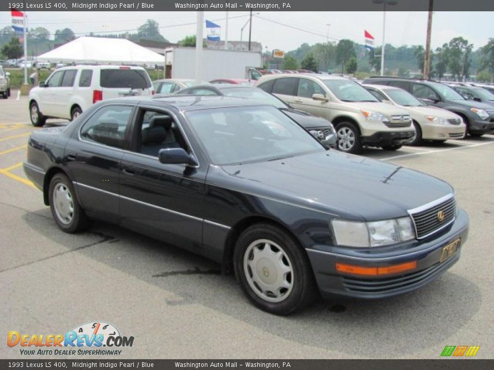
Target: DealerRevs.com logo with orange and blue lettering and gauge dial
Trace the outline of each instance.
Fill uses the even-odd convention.
[[[123,337],[112,324],[97,321],[78,325],[65,334],[31,335],[11,330],[7,335],[7,345],[21,347],[21,355],[28,356],[120,355],[122,350],[118,348],[132,347],[133,344],[134,337]]]

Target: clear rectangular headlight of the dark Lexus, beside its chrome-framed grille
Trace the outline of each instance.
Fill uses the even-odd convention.
[[[410,217],[368,223],[334,219],[336,243],[346,247],[379,247],[415,239]]]

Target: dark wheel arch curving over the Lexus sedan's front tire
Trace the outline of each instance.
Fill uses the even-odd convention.
[[[228,274],[233,271],[233,252],[235,250],[235,244],[237,243],[239,236],[242,234],[243,231],[256,224],[270,224],[272,226],[278,227],[281,230],[287,232],[290,236],[292,236],[295,239],[295,241],[299,245],[301,245],[297,236],[281,221],[264,215],[247,216],[245,218],[242,218],[240,221],[238,221],[230,229],[228,235],[226,236],[224,252],[223,252],[223,261],[221,264],[221,271],[223,274]]]

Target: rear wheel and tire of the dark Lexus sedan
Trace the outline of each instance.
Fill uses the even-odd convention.
[[[66,233],[85,230],[90,225],[84,210],[79,205],[72,181],[64,174],[56,174],[48,190],[51,214],[58,227]]]

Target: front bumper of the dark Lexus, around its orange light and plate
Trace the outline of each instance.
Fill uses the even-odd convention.
[[[469,220],[458,210],[455,221],[438,236],[409,248],[387,247],[384,251],[355,251],[352,248],[315,246],[307,248],[315,279],[323,298],[334,295],[360,299],[379,299],[403,294],[426,285],[449,269],[460,258],[468,237]],[[443,248],[461,238],[461,244],[452,256],[439,262]],[[341,273],[336,263],[362,267],[385,267],[417,261],[414,270],[383,276],[364,276]]]

